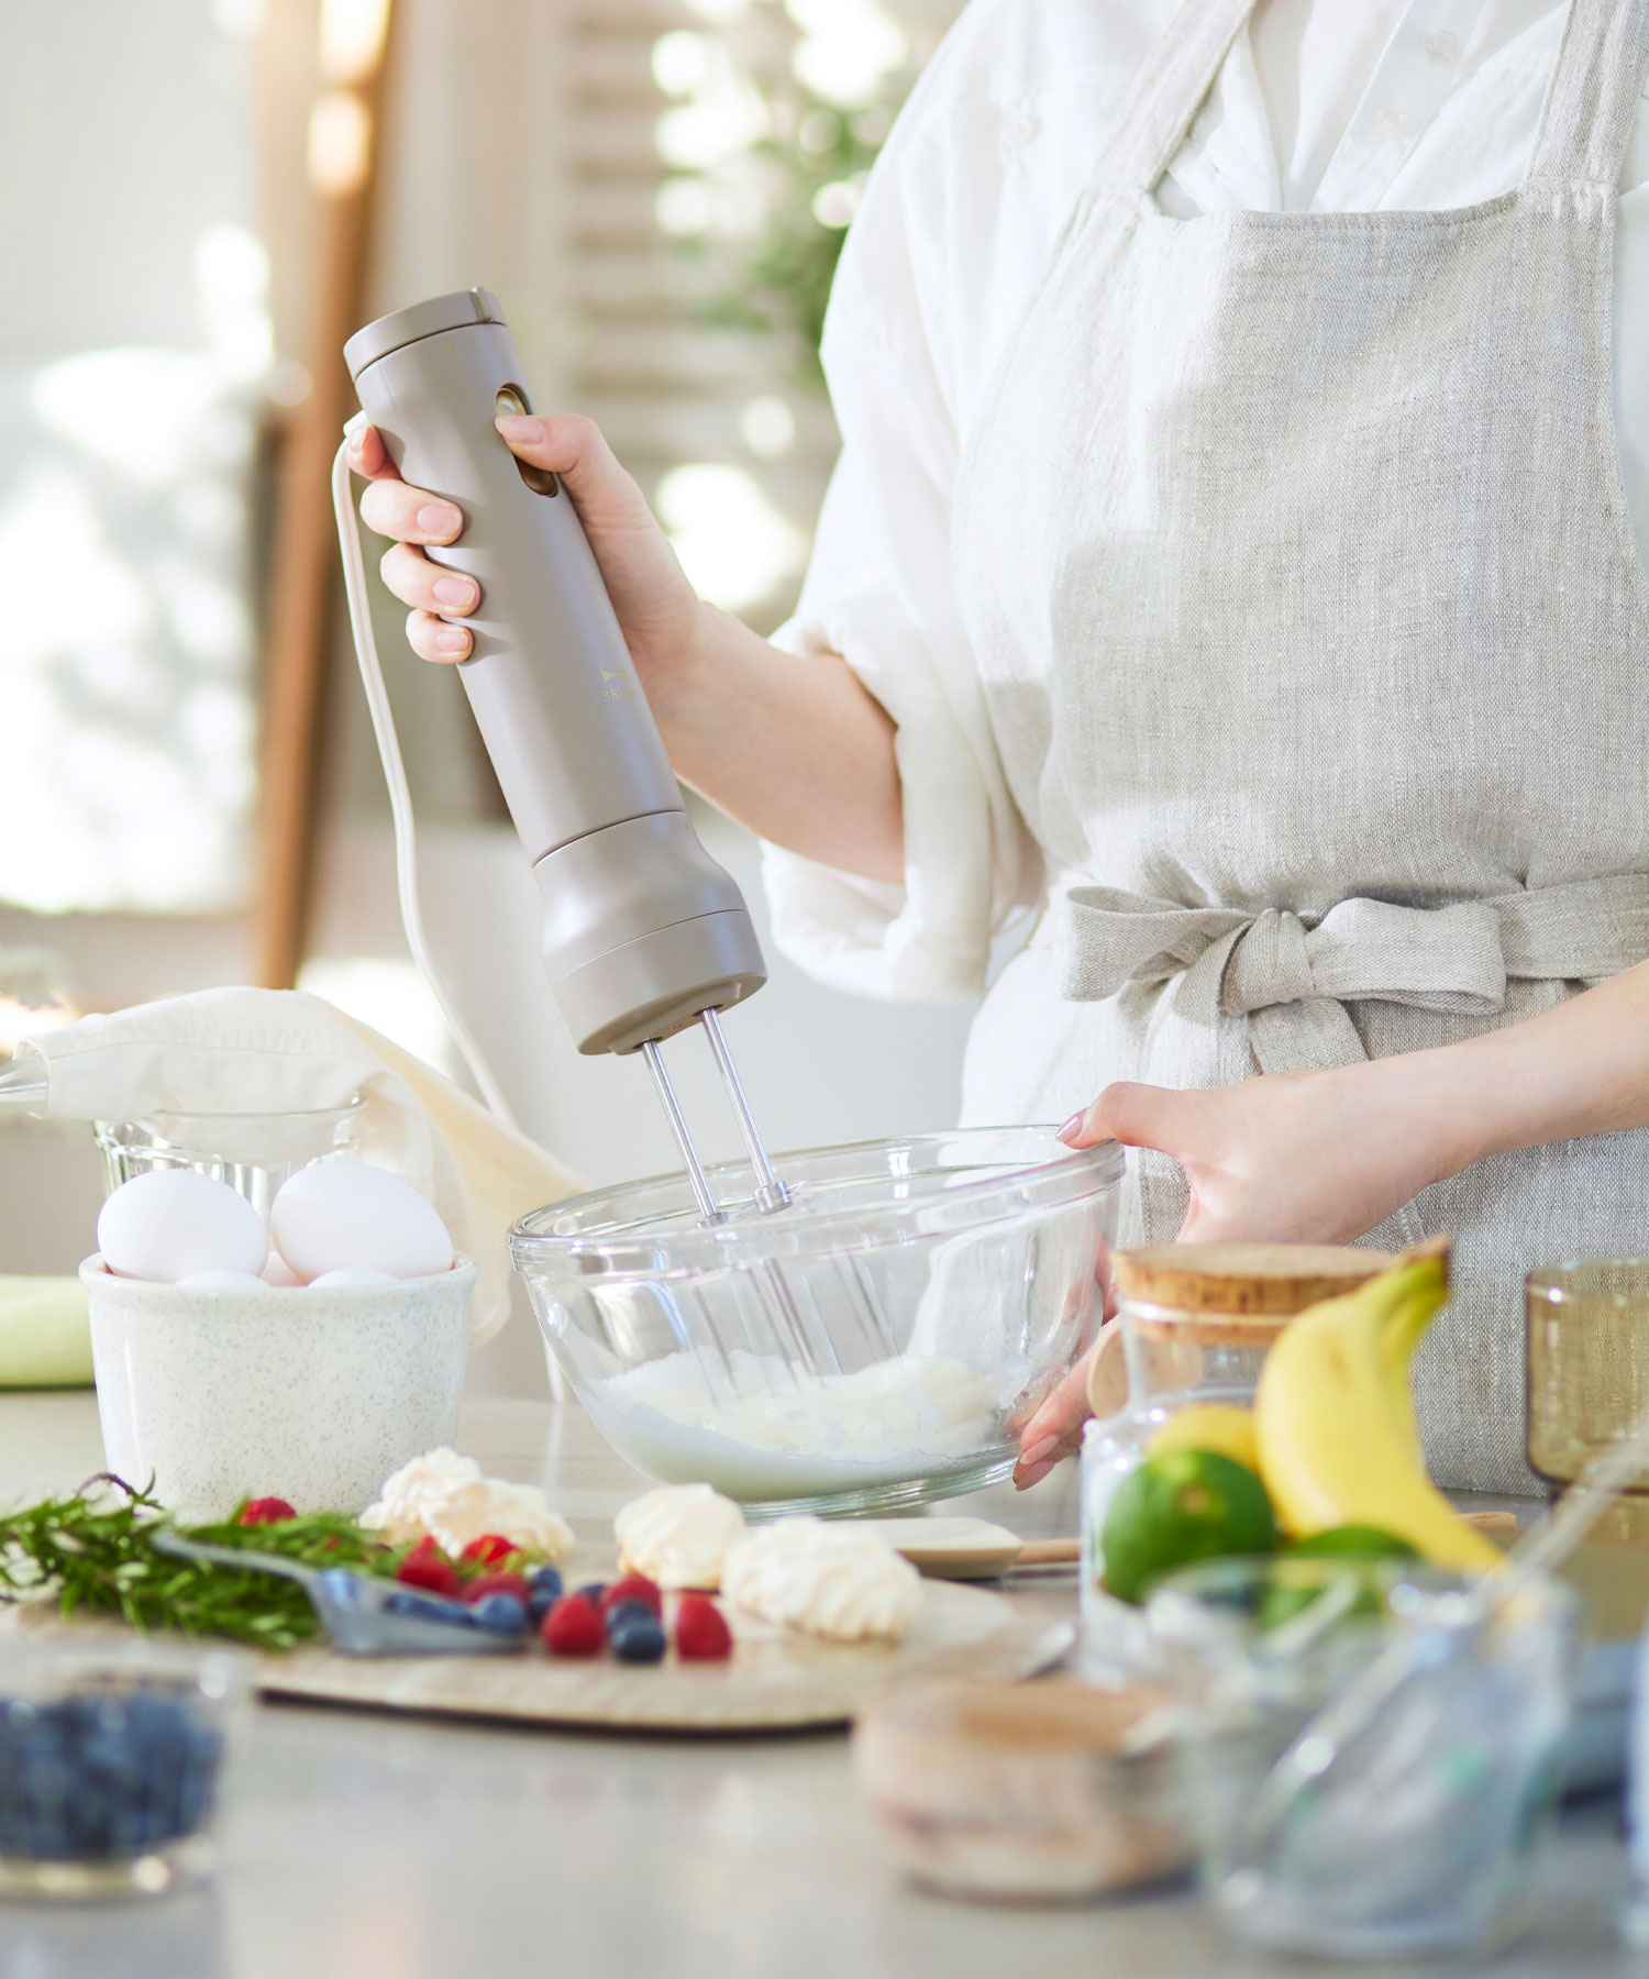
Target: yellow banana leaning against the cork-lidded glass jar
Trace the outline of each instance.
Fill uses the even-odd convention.
[[[1295,1538],[1380,1526],[1439,1567],[1501,1563],[1419,1459],[1407,1367],[1447,1296],[1447,1245],[1427,1245],[1283,1328],[1259,1375],[1255,1435],[1259,1474]]]

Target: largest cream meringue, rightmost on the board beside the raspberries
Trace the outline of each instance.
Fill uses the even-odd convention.
[[[873,1532],[780,1518],[728,1552],[721,1591],[744,1615],[804,1635],[897,1643],[922,1599],[922,1577]]]

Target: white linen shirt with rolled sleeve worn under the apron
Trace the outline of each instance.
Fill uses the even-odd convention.
[[[897,724],[905,885],[766,847],[778,946],[843,990],[950,1001],[1037,902],[950,576],[962,447],[1101,142],[1178,0],[972,0],[871,172],[824,364],[843,451],[776,643],[847,659]],[[1560,0],[1261,0],[1162,208],[1378,212],[1510,190],[1534,144]],[[1649,109],[1621,172],[1615,429],[1649,548]],[[1623,360],[1621,354],[1627,354]]]

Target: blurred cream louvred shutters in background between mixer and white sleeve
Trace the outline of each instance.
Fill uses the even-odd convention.
[[[853,0],[829,4],[841,8],[833,16],[833,32],[845,38],[837,53],[851,59]],[[909,83],[958,6],[885,0],[873,8],[861,0],[859,10],[893,16],[907,42],[907,61],[879,91],[887,97]],[[681,182],[699,174],[661,156],[659,127],[671,113],[691,111],[705,91],[669,93],[655,67],[669,81],[683,55],[687,73],[693,59],[709,59],[723,85],[730,71],[778,101],[778,115],[794,123],[792,63],[808,38],[792,14],[816,26],[825,18],[818,6],[810,14],[806,4],[786,10],[778,0],[744,8],[734,0],[701,0],[699,8],[687,0],[570,0],[564,44],[570,396],[655,499],[701,588],[760,629],[776,625],[794,600],[835,457],[835,425],[824,392],[800,376],[794,342],[703,321],[734,257],[719,236],[695,255],[691,239],[663,232],[661,188],[671,188],[669,210]],[[865,34],[873,38],[875,24]],[[675,40],[663,49],[673,59],[659,59],[659,42],[671,36],[697,36],[697,51]],[[719,178],[721,168],[711,172],[713,184]],[[784,443],[792,424],[794,437]]]

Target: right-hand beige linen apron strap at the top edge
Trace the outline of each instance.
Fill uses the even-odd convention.
[[[1570,0],[1524,184],[1613,190],[1643,89],[1649,0]]]

